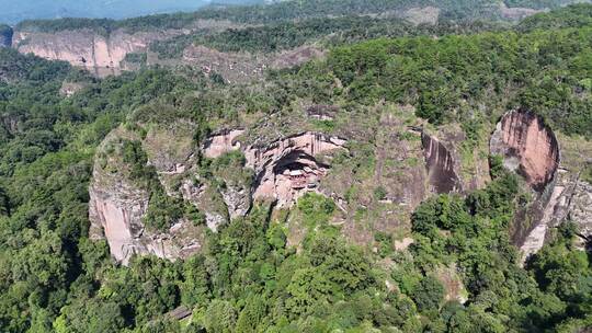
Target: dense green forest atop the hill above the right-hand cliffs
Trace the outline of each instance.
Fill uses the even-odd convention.
[[[582,27],[379,39],[338,48],[325,68],[304,71],[334,74],[344,85],[340,93],[361,103],[413,104],[434,124],[470,117],[479,103],[503,93],[509,105],[590,137],[591,37],[592,28]]]

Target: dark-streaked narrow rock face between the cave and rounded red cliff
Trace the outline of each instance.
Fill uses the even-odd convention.
[[[456,163],[446,146],[434,137],[422,133],[421,142],[425,157],[425,169],[430,190],[435,193],[462,191]]]

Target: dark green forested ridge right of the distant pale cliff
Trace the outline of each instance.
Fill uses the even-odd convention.
[[[204,45],[220,51],[273,53],[292,49],[307,43],[335,46],[377,37],[417,35],[445,35],[501,30],[502,25],[483,21],[454,23],[442,21],[437,25],[420,26],[401,19],[343,16],[282,22],[257,27],[229,28],[218,33],[196,32],[167,41],[157,41],[150,50],[160,58],[180,57],[189,45]]]

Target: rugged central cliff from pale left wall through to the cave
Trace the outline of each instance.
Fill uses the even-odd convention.
[[[204,236],[203,226],[185,218],[172,221],[167,230],[146,227],[151,194],[128,176],[129,165],[121,158],[123,141],[140,141],[167,195],[194,205],[214,231],[229,219],[244,216],[253,199],[289,206],[304,193],[317,191],[329,169],[317,158],[344,149],[345,142],[337,137],[303,133],[244,146],[237,140],[243,130],[223,130],[197,148],[192,143],[192,127],[183,122],[147,125],[143,127],[147,130],[144,138],[119,127],[101,145],[90,185],[91,234],[94,239],[105,238],[118,262],[127,264],[134,254],[182,259],[201,249]],[[210,163],[198,162],[200,149]],[[238,150],[239,156],[244,156],[246,165],[229,154]]]

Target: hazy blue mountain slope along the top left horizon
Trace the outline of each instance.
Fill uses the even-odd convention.
[[[58,18],[125,19],[156,13],[194,11],[213,2],[254,3],[258,0],[27,0],[0,1],[0,22],[16,24],[23,20]]]

